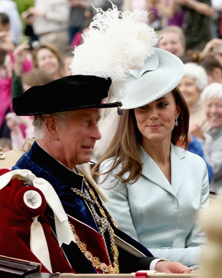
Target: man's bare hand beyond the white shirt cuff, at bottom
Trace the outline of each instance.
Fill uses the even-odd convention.
[[[167,262],[159,261],[156,263],[155,270],[163,273],[191,273],[190,268],[178,263],[178,262]]]

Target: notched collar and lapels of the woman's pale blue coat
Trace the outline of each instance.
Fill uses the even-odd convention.
[[[142,146],[140,148],[140,156],[143,164],[142,175],[176,196],[187,170],[187,165],[183,160],[186,156],[186,151],[171,143],[171,184]]]

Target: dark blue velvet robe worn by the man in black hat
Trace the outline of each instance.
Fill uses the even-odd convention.
[[[74,173],[73,171],[62,165],[60,162],[55,160],[55,158],[53,158],[45,150],[43,150],[36,142],[33,143],[30,151],[28,153],[25,153],[17,161],[12,170],[15,169],[28,169],[37,177],[46,179],[53,186],[56,193],[58,194],[65,212],[99,232],[97,223],[94,220],[94,217],[92,216],[88,205],[86,205],[83,199],[76,196],[71,189],[87,189],[81,175]],[[100,199],[95,190],[94,193],[97,197],[97,200],[100,202]],[[100,205],[103,206],[102,203],[100,203]],[[101,215],[98,207],[96,205],[94,207],[98,215]],[[149,269],[150,262],[154,259],[149,250],[124,232],[115,228],[112,221],[110,219],[108,220],[118,237],[142,252],[145,256],[147,256],[138,258],[130,254],[128,251],[123,250],[122,248],[118,248],[120,271],[129,273],[137,271],[139,269]],[[53,229],[53,222],[51,222],[50,224]],[[109,249],[109,241],[106,240],[106,242]],[[97,273],[97,271],[92,267],[88,259],[86,259],[86,257],[79,250],[76,244],[74,244],[73,242],[69,245],[63,244],[62,249],[65,253],[65,256],[67,256],[70,264],[77,273]],[[78,260],[73,260],[73,257],[78,257]]]

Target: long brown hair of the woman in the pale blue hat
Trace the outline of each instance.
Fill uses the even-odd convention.
[[[181,112],[177,119],[178,125],[173,129],[171,135],[171,142],[174,145],[185,145],[187,148],[187,134],[189,129],[189,109],[187,103],[176,87],[172,90],[176,105],[179,105]],[[121,170],[115,177],[122,183],[135,183],[142,173],[142,161],[140,158],[140,143],[141,133],[138,130],[136,118],[134,115],[134,109],[127,109],[125,113],[118,119],[118,125],[112,141],[109,144],[108,149],[92,168],[92,177],[98,182],[99,167],[106,159],[113,159],[111,168],[102,173],[102,175],[108,175],[113,169],[121,164]],[[130,170],[129,176],[123,179],[123,175]]]

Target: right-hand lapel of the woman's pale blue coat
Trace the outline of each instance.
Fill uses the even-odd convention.
[[[171,144],[171,186],[175,194],[178,193],[187,171],[185,155],[184,149]]]

